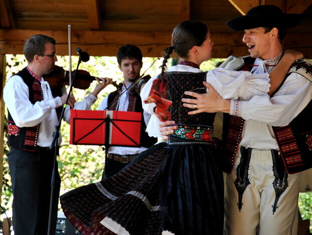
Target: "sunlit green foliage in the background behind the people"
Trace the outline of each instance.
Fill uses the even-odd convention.
[[[156,62],[151,66],[152,62]],[[224,59],[211,59],[201,64],[202,70],[213,69],[220,61]],[[72,56],[72,70],[77,67],[78,56]],[[170,59],[168,67],[176,63],[176,59]],[[69,70],[69,57],[58,56],[57,65],[62,66],[65,70]],[[162,64],[162,58],[143,58],[143,67],[141,73],[144,75],[150,74],[156,75],[160,72],[159,66]],[[23,67],[27,65],[24,55],[7,55],[7,78],[11,77]],[[122,72],[118,68],[117,60],[115,57],[90,57],[90,60],[85,63],[81,63],[79,69],[84,69],[92,76],[97,77],[111,77],[117,83],[122,80]],[[147,69],[147,70],[146,70]],[[146,70],[146,71],[145,71]],[[82,100],[89,92],[91,92],[96,85],[96,81],[91,83],[91,86],[87,90],[73,89],[73,94],[76,100]],[[93,110],[96,110],[101,100],[115,88],[112,85],[108,85],[98,95],[99,98],[92,106]],[[7,130],[5,129],[6,133]],[[62,122],[61,126],[62,143],[60,148],[60,156],[58,156],[59,173],[62,179],[61,194],[73,188],[99,181],[104,167],[104,151],[101,146],[94,145],[72,145],[69,144],[70,139],[70,125],[66,122]],[[3,162],[3,191],[2,191],[2,206],[6,210],[10,211],[12,207],[12,190],[11,181],[9,175],[9,166],[7,161],[7,153],[9,147],[5,139],[5,151]],[[300,193],[299,194],[299,209],[302,219],[312,218],[312,193]],[[3,213],[4,211],[2,211]],[[312,227],[311,227],[312,231]]]

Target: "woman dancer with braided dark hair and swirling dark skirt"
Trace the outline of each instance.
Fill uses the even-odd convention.
[[[212,138],[215,113],[190,116],[181,99],[185,90],[206,92],[203,81],[219,87],[226,98],[267,95],[269,74],[202,72],[199,65],[211,58],[213,46],[202,22],[178,24],[172,45],[165,49],[161,75],[148,81],[141,94],[148,96],[144,109],[162,121],[175,120],[179,128],[168,142],[140,153],[116,175],[61,196],[65,215],[82,234],[222,234],[223,178]],[[165,72],[173,50],[180,64]],[[280,63],[289,67],[288,60]],[[254,82],[264,88],[255,89]]]

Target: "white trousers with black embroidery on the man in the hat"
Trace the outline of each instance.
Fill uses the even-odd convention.
[[[279,197],[276,211],[273,188],[273,162],[270,150],[252,149],[248,178],[250,184],[238,209],[238,192],[234,181],[240,162],[238,151],[234,169],[226,177],[225,234],[227,235],[295,235],[298,226],[298,191],[300,173],[288,175],[288,187]]]

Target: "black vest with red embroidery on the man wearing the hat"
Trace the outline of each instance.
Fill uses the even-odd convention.
[[[237,66],[235,70],[251,70],[254,58],[250,56],[232,57],[233,60],[236,58],[243,59],[244,62],[241,63],[240,66],[235,64],[235,66]],[[227,65],[223,67],[231,69],[231,67]],[[304,72],[309,74],[309,76],[312,74],[312,66],[310,64],[303,60],[297,60],[292,64],[290,72],[287,73],[284,81],[291,72],[297,72],[298,69],[304,69]],[[302,74],[302,72],[300,74]],[[311,106],[312,103],[310,101],[289,125],[282,127],[272,126],[288,173],[296,173],[312,167],[312,123],[309,120]],[[224,141],[224,172],[231,173],[233,169],[244,121],[242,117],[229,114],[224,115],[222,134],[222,139]]]

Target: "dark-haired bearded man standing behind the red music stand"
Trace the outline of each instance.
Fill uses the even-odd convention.
[[[105,162],[105,175],[103,175],[103,178],[112,176],[117,173],[130,161],[132,161],[138,155],[138,153],[147,149],[157,141],[156,138],[149,137],[145,132],[145,123],[148,123],[150,114],[143,111],[137,85],[132,86],[133,82],[140,78],[140,70],[143,64],[142,52],[137,46],[133,44],[125,44],[118,49],[116,56],[118,67],[123,73],[123,82],[117,90],[111,92],[103,99],[98,107],[98,110],[141,112],[141,146],[110,146]]]

